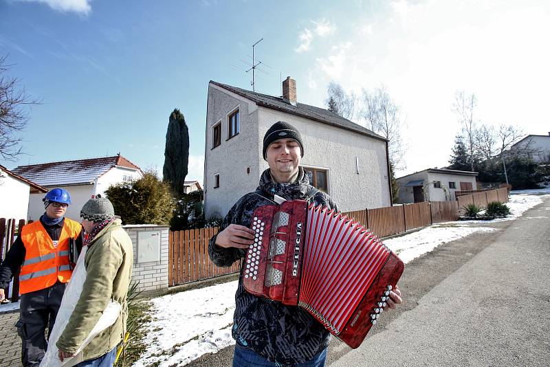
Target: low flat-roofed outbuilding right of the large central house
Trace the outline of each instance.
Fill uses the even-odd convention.
[[[477,175],[466,170],[428,168],[399,177],[399,203],[456,200],[455,191],[476,190]]]

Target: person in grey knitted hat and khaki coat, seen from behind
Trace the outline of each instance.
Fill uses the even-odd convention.
[[[119,302],[122,310],[127,309],[126,294],[132,274],[132,241],[122,228],[120,219],[115,217],[111,201],[103,197],[89,199],[80,210],[80,216],[87,234],[83,263],[86,280],[69,322],[55,342],[62,362],[77,354],[110,300]],[[126,318],[127,313],[123,311],[113,325],[84,346],[84,362],[76,366],[112,366],[116,346],[125,333]]]

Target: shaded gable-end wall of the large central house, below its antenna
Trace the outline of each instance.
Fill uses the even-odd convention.
[[[240,133],[228,140],[228,114],[239,108]],[[212,148],[212,126],[221,120],[221,144]],[[263,135],[262,135],[263,137]],[[260,144],[256,104],[219,87],[208,87],[206,144],[204,148],[204,211],[223,218],[244,194],[258,186]],[[250,173],[247,172],[250,168]],[[220,187],[214,188],[214,175],[219,174]]]

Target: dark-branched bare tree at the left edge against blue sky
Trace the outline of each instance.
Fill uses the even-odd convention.
[[[19,79],[7,76],[11,65],[7,56],[0,56],[0,157],[14,160],[22,153],[22,137],[19,135],[29,120],[29,109],[39,100],[31,99],[25,89],[19,87]]]

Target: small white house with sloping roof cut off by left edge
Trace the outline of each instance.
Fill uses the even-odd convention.
[[[0,165],[0,218],[27,219],[30,194],[45,192],[47,188]]]

